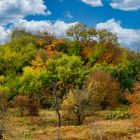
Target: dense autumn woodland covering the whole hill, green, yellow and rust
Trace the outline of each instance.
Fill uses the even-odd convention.
[[[21,117],[55,111],[61,127],[126,106],[130,113],[117,115],[130,115],[140,126],[139,100],[140,54],[107,30],[78,23],[60,38],[15,29],[0,45],[0,137],[9,108],[18,108]]]

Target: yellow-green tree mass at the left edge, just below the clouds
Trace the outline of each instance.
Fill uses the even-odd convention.
[[[0,74],[21,73],[24,66],[30,65],[37,51],[34,36],[17,30],[11,36],[11,41],[0,47]]]

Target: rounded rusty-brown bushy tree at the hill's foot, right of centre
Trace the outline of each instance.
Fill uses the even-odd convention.
[[[93,106],[101,109],[115,107],[119,99],[119,84],[103,70],[94,72],[86,82]]]

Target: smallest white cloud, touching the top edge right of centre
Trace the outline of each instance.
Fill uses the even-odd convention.
[[[82,2],[91,5],[92,7],[103,6],[101,0],[81,0]]]

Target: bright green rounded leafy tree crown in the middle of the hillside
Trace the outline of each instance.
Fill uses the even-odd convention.
[[[82,87],[89,71],[83,66],[80,57],[60,54],[47,61],[47,72],[53,76],[54,81],[61,81],[63,87],[68,84]]]

